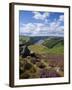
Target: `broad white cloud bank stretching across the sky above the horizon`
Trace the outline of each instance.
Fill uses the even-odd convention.
[[[20,27],[20,34],[26,36],[63,36],[64,26],[60,22],[51,22],[48,25],[44,23],[28,23]]]

